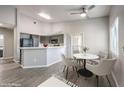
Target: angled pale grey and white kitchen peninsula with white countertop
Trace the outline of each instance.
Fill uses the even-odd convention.
[[[22,68],[48,67],[62,61],[61,53],[65,53],[65,47],[22,47],[20,51]]]

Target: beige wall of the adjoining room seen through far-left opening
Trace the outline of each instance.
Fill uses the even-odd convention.
[[[14,56],[14,33],[13,30],[0,28],[0,34],[4,35],[4,58]]]

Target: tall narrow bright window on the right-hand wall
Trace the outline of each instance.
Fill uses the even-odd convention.
[[[117,17],[114,21],[114,24],[112,25],[111,28],[111,33],[110,33],[110,40],[111,40],[111,52],[112,55],[118,56],[118,25],[119,25],[119,18]]]

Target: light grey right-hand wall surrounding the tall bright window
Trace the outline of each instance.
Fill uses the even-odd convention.
[[[114,75],[119,86],[124,87],[124,6],[113,6],[110,13],[110,28],[116,17],[119,17],[119,61],[114,67]]]

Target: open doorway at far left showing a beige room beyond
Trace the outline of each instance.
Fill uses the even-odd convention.
[[[0,63],[13,61],[14,56],[14,31],[13,29],[0,28]]]

